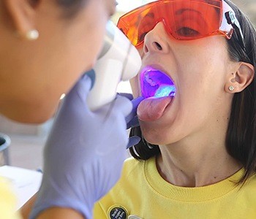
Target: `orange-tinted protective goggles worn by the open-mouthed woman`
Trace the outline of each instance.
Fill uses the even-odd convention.
[[[118,20],[118,28],[136,47],[162,22],[178,40],[222,35],[230,39],[236,31],[244,47],[244,36],[233,9],[222,0],[159,0],[133,9]]]

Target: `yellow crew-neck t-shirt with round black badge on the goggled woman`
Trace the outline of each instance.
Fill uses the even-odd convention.
[[[214,185],[186,188],[163,180],[155,158],[129,158],[121,179],[95,204],[94,219],[255,219],[256,176],[242,188],[233,183],[243,172]]]

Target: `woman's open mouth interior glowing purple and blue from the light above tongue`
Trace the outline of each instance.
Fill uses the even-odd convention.
[[[140,74],[140,89],[145,98],[176,95],[176,86],[173,80],[164,72],[151,67],[146,67]]]

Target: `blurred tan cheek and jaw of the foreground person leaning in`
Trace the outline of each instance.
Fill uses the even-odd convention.
[[[61,94],[94,65],[115,1],[87,0],[70,18],[56,1],[38,1],[27,19],[39,31],[34,42],[16,36],[15,16],[0,4],[0,112],[21,122],[43,122]]]

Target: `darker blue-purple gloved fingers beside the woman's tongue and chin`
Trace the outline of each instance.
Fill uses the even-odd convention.
[[[129,113],[129,115],[127,115],[127,118],[125,118],[125,120],[127,121],[127,129],[140,126],[138,116],[137,116],[137,108],[138,108],[138,104],[140,104],[140,102],[143,101],[144,97],[139,96],[138,98],[133,99],[133,96],[131,93],[118,93],[118,94],[120,96],[125,96],[132,101],[132,112]],[[140,137],[138,136],[129,137],[127,148],[132,147],[133,145],[137,145],[138,142],[140,142]]]

